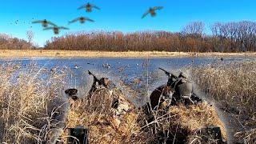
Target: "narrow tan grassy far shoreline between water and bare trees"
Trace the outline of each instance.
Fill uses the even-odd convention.
[[[187,53],[166,51],[0,50],[0,58],[174,58],[256,57],[254,53]]]

